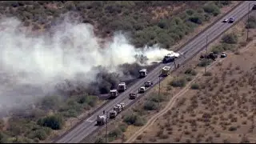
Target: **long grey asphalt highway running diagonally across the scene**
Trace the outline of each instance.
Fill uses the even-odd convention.
[[[236,7],[232,10],[229,14],[227,14],[224,18],[231,18],[234,17],[235,21],[238,19],[245,17],[248,13],[248,6],[250,4],[250,9],[253,4],[256,4],[254,1],[245,1],[240,6]],[[198,35],[197,38],[194,38],[191,42],[189,42],[186,46],[184,46],[181,50],[178,51],[179,54],[185,54],[184,57],[178,58],[175,62],[176,64],[182,64],[186,61],[187,58],[191,58],[194,54],[198,53],[199,50],[202,50],[206,47],[206,36],[208,35],[208,42],[214,40],[214,38],[218,37],[222,32],[227,30],[230,26],[234,25],[234,23],[223,23],[223,19],[216,22],[213,26],[211,26],[208,30],[203,32],[202,34]],[[114,98],[106,106],[103,106],[101,109],[96,111],[90,118],[86,118],[80,125],[76,126],[73,130],[70,130],[69,133],[62,136],[62,138],[58,139],[57,143],[78,143],[81,142],[83,138],[86,138],[89,134],[92,134],[94,130],[98,128],[95,126],[96,119],[98,115],[102,115],[102,111],[105,110],[106,112],[113,109],[113,106],[120,102],[124,102],[128,105],[133,100],[130,100],[129,94],[130,93],[138,93],[138,88],[140,86],[144,86],[144,82],[151,81],[154,82],[154,85],[157,85],[159,82],[158,75],[160,74],[160,70],[163,66],[171,66],[171,69],[174,70],[173,62],[163,64],[161,63],[158,67],[152,70],[146,78],[142,78],[138,80],[133,86],[127,88],[127,90],[118,95],[117,98]],[[160,77],[162,79],[162,77]],[[142,94],[138,94],[138,97],[142,96]]]

